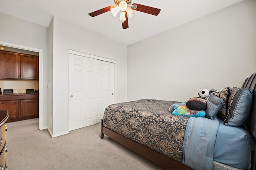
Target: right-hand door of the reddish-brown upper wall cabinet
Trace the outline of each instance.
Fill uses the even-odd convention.
[[[36,56],[20,54],[20,79],[36,80]]]

